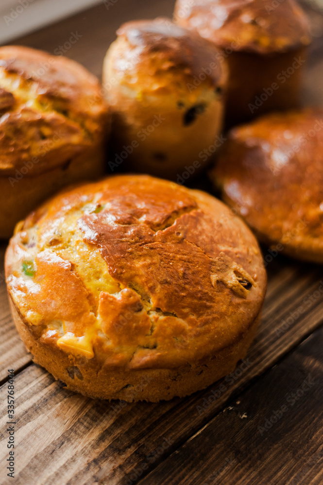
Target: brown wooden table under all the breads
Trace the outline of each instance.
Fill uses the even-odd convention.
[[[171,15],[173,0],[102,4],[17,43],[66,55],[100,76],[119,24]],[[323,104],[323,17],[304,100]],[[201,180],[200,180],[201,182]],[[267,265],[262,321],[245,362],[204,391],[159,404],[91,400],[32,362],[11,320],[0,249],[0,484],[322,485],[323,269],[281,256]],[[264,255],[268,250],[264,248]],[[270,259],[270,258],[269,258]],[[15,369],[16,471],[6,476],[7,369]]]

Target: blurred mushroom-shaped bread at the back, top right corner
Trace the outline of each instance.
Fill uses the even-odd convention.
[[[174,20],[222,49],[227,125],[298,106],[310,34],[294,0],[177,0]]]

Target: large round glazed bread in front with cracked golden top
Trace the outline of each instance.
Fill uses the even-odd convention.
[[[17,226],[5,271],[35,361],[69,389],[125,401],[232,372],[266,289],[255,237],[228,207],[141,175],[52,198]]]

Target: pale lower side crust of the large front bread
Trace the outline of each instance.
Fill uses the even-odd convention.
[[[94,357],[91,360],[68,355],[56,346],[35,339],[28,323],[24,321],[9,295],[10,307],[17,330],[34,362],[44,367],[67,388],[90,398],[126,402],[158,402],[184,397],[210,386],[233,372],[238,360],[246,356],[255,337],[260,313],[248,330],[234,344],[204,359],[198,364],[188,364],[174,369],[140,369],[116,371],[102,366]],[[75,369],[75,367],[77,369]],[[79,377],[81,377],[80,379]],[[73,377],[71,377],[73,376]],[[78,377],[79,376],[79,377]]]

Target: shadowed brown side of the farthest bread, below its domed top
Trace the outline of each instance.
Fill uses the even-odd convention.
[[[272,111],[298,108],[306,61],[306,48],[266,56],[254,52],[232,52],[227,57],[230,76],[226,127]]]

